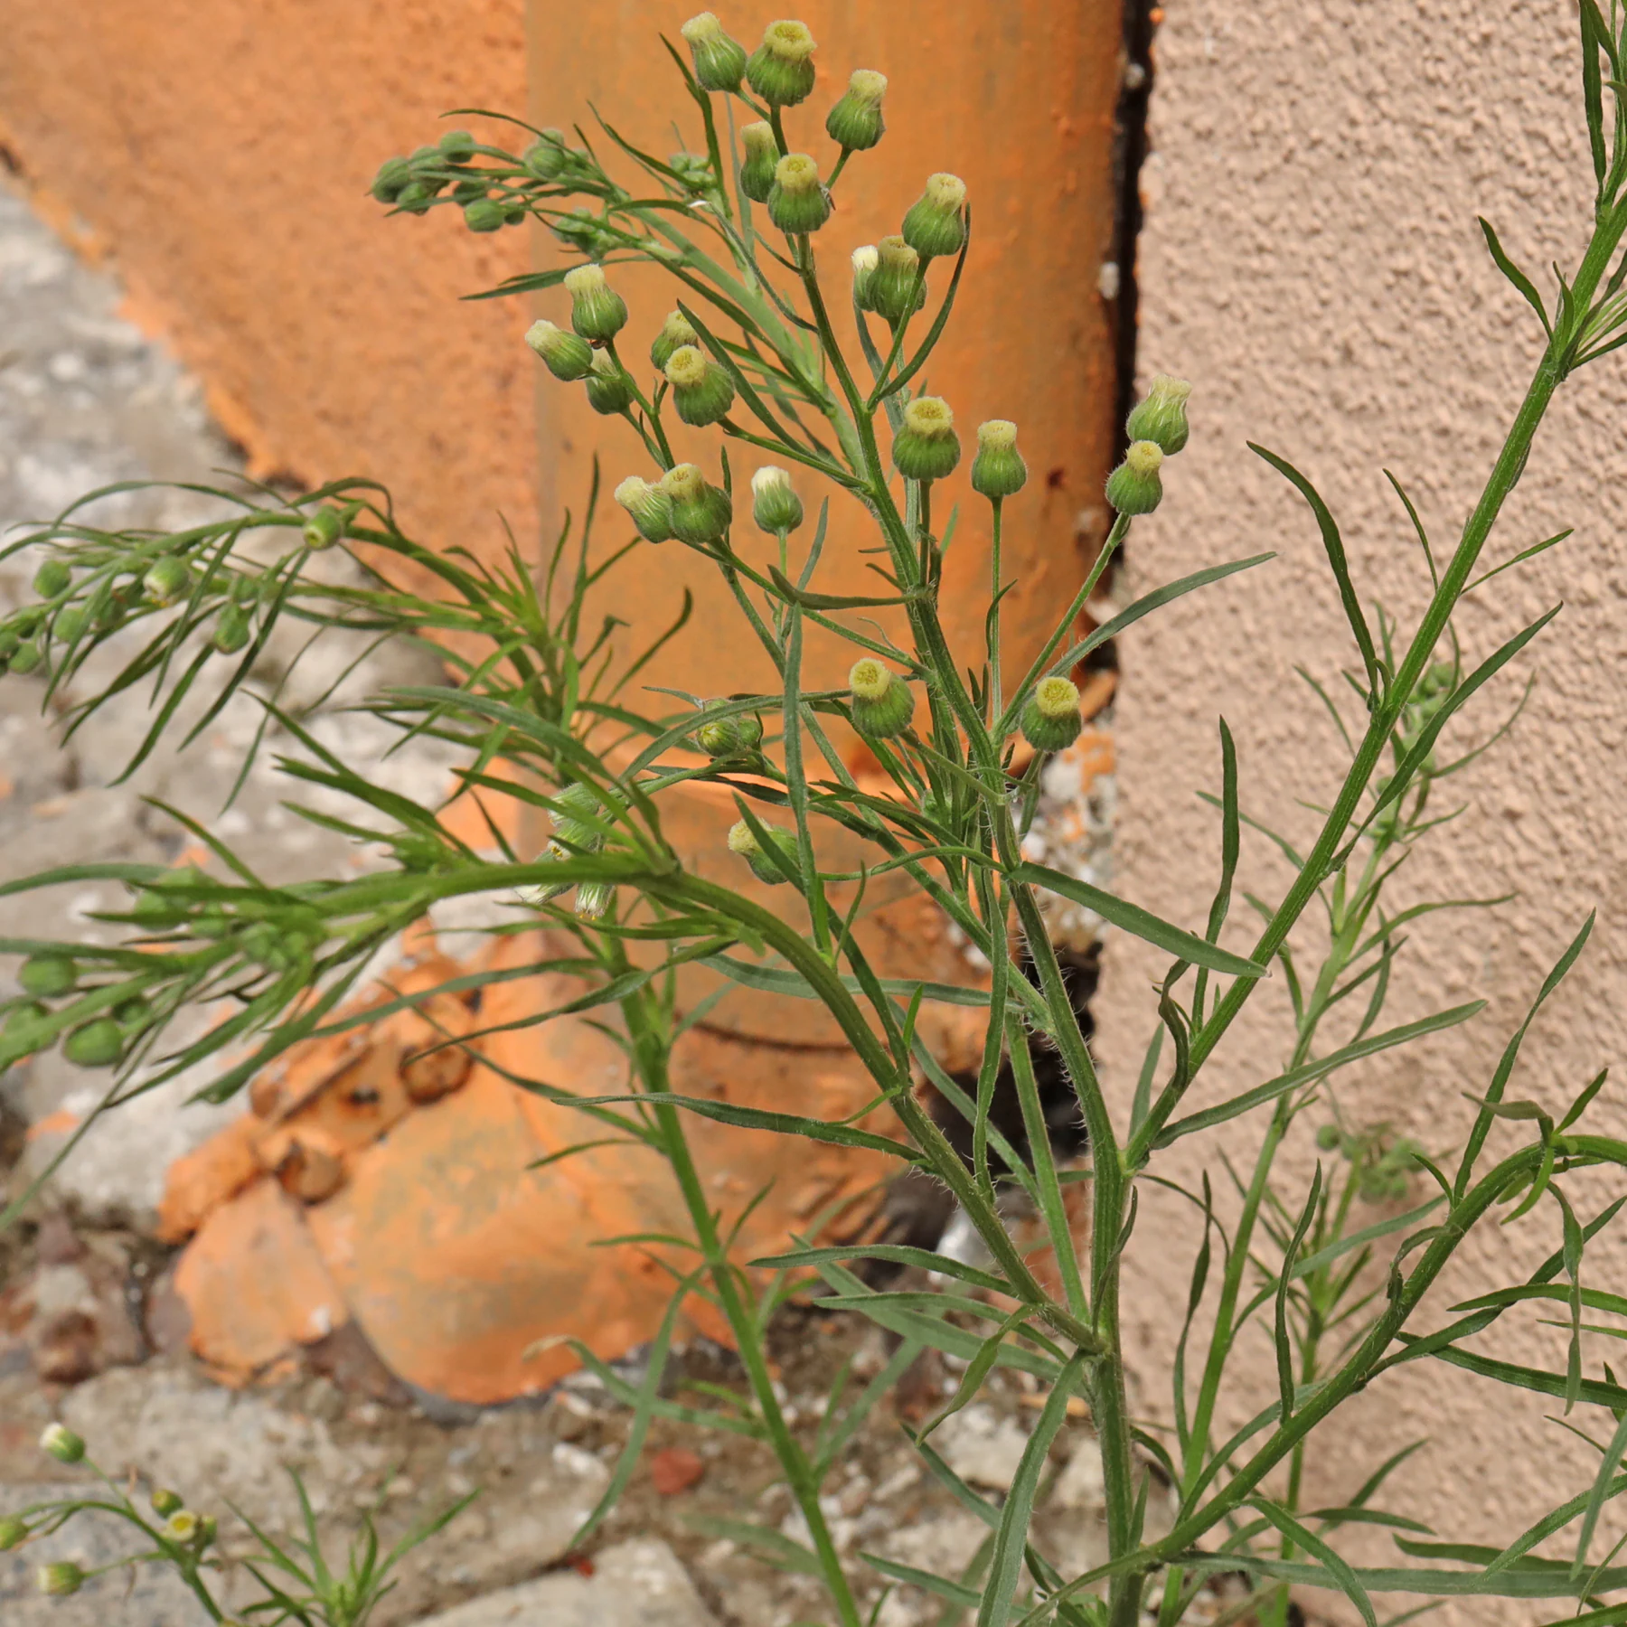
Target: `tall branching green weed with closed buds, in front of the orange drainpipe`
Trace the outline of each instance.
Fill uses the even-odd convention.
[[[1585,1272],[1588,1241],[1622,1201],[1585,1215],[1567,1196],[1575,1170],[1627,1168],[1627,1144],[1583,1126],[1603,1075],[1578,1082],[1559,1114],[1510,1098],[1528,1019],[1495,1074],[1479,1084],[1477,1118],[1455,1157],[1363,1124],[1354,1101],[1336,1100],[1333,1084],[1363,1058],[1481,1010],[1468,1004],[1385,1027],[1402,929],[1425,908],[1393,906],[1388,888],[1401,859],[1440,823],[1438,783],[1466,760],[1448,753],[1464,708],[1554,612],[1472,665],[1453,633],[1453,613],[1489,576],[1538,552],[1489,563],[1503,501],[1554,394],[1578,368],[1627,342],[1627,29],[1614,0],[1609,18],[1594,0],[1581,0],[1581,91],[1596,176],[1586,252],[1544,299],[1485,228],[1494,259],[1533,306],[1546,345],[1450,550],[1432,547],[1398,486],[1430,582],[1415,626],[1363,604],[1337,524],[1311,482],[1256,447],[1311,511],[1357,664],[1342,706],[1321,696],[1347,747],[1339,791],[1308,846],[1271,838],[1293,879],[1276,901],[1248,900],[1259,919],[1246,931],[1233,877],[1243,828],[1256,822],[1241,812],[1241,771],[1224,724],[1217,882],[1210,898],[1194,901],[1201,931],[1023,856],[1046,755],[1080,731],[1079,664],[1171,599],[1271,558],[1215,561],[1105,625],[1079,630],[1134,521],[1165,501],[1167,486],[1178,501],[1188,386],[1158,377],[1136,407],[1128,451],[1106,485],[1111,530],[1045,643],[1012,662],[1002,648],[1001,607],[1012,586],[1002,527],[1020,516],[1028,478],[1017,426],[984,423],[968,447],[953,405],[921,392],[975,252],[965,184],[949,172],[924,177],[900,192],[896,236],[874,246],[835,241],[841,177],[849,163],[874,161],[866,155],[883,140],[885,78],[861,68],[820,117],[807,106],[815,42],[804,24],[773,23],[748,50],[703,13],[683,24],[682,41],[667,50],[691,151],[656,156],[604,119],[591,133],[569,135],[516,122],[526,132],[519,151],[454,130],[386,163],[373,187],[382,205],[403,215],[460,210],[470,231],[542,220],[574,255],[569,268],[517,277],[493,293],[560,298],[550,291],[561,290],[568,299],[527,338],[561,389],[582,389],[595,412],[626,425],[628,462],[615,485],[625,545],[595,555],[582,527],[540,561],[517,550],[496,565],[434,553],[400,530],[382,490],[355,480],[296,503],[228,495],[233,509],[225,519],[179,534],[104,532],[70,511],[15,545],[44,555],[37,602],[0,630],[11,669],[49,670],[54,688],[112,630],[150,630],[116,680],[116,688],[153,687],[155,722],[137,760],[189,690],[202,685],[213,691],[212,708],[225,704],[281,620],[316,633],[433,641],[444,652],[447,682],[392,690],[373,709],[403,734],[460,747],[460,792],[488,805],[519,799],[547,810],[547,851],[475,851],[452,835],[439,807],[379,791],[273,706],[280,727],[306,748],[288,773],[353,797],[360,812],[345,830],[382,844],[389,862],[361,875],[270,887],[194,825],[218,857],[210,872],[86,862],[13,883],[112,877],[129,883],[130,903],[112,918],[127,929],[117,947],[5,945],[29,960],[0,1062],[60,1043],[73,1061],[114,1069],[116,1105],[210,1054],[247,1046],[251,1054],[225,1066],[210,1087],[225,1098],[290,1045],[335,1032],[345,1020],[340,1002],[369,957],[431,906],[475,893],[511,896],[514,927],[545,924],[556,945],[547,965],[587,986],[568,1009],[599,1012],[628,1062],[626,1090],[610,1098],[516,1082],[579,1111],[594,1134],[631,1137],[669,1165],[693,1227],[690,1264],[674,1272],[675,1305],[691,1293],[713,1303],[732,1331],[744,1375],[737,1394],[682,1415],[773,1448],[809,1538],[791,1562],[822,1580],[830,1620],[859,1627],[874,1619],[879,1606],[866,1601],[880,1578],[937,1594],[945,1620],[975,1612],[979,1627],[1132,1627],[1147,1612],[1160,1627],[1175,1627],[1215,1575],[1246,1578],[1233,1617],[1254,1612],[1276,1622],[1285,1619],[1290,1586],[1342,1594],[1370,1627],[1378,1619],[1373,1593],[1409,1594],[1420,1604],[1453,1596],[1549,1601],[1534,1607],[1593,1624],[1627,1620],[1627,1606],[1609,1603],[1627,1588],[1627,1567],[1616,1562],[1620,1544],[1606,1541],[1612,1498],[1627,1489],[1627,1388],[1607,1368],[1586,1372],[1581,1360],[1581,1333],[1594,1326],[1585,1318],[1614,1318],[1609,1331],[1617,1337],[1627,1328],[1619,1321],[1627,1298],[1590,1285]],[[670,277],[670,311],[630,311],[618,291],[618,270],[628,264]],[[854,314],[857,353],[838,334],[838,301]],[[674,423],[713,431],[714,451],[703,464],[674,456]],[[748,483],[739,478],[742,460],[755,465]],[[958,496],[962,482],[989,504],[991,519],[978,648],[952,648],[940,618],[945,495]],[[814,503],[822,488],[856,498],[867,516],[879,573],[872,595],[820,591],[831,545],[828,506]],[[285,547],[272,547],[273,563],[260,565],[251,540],[260,555],[267,542]],[[306,574],[311,555],[332,547],[355,550],[373,573],[368,586],[324,586]],[[771,691],[685,696],[680,709],[662,709],[659,696],[670,691],[631,683],[654,651],[623,657],[613,628],[595,626],[586,600],[628,553],[649,547],[687,548],[709,561],[745,636],[778,675]],[[407,568],[420,573],[415,579],[433,579],[436,594],[399,586]],[[877,623],[877,610],[893,620]],[[853,648],[846,688],[804,682],[810,628]],[[75,716],[103,698],[83,701]],[[869,747],[885,789],[856,779],[843,750],[848,731]],[[783,888],[774,895],[786,900],[783,908],[680,862],[662,833],[662,800],[696,781],[727,787],[737,814],[727,848],[742,877],[750,872]],[[499,848],[503,828],[491,820]],[[861,874],[822,867],[822,833],[833,828],[864,844]],[[981,986],[883,979],[870,965],[854,934],[857,905],[838,906],[835,890],[857,882],[862,898],[864,885],[895,874],[924,892],[983,957],[989,971]],[[1046,934],[1046,895],[1093,911],[1168,957],[1150,997],[1145,1067],[1123,1100],[1113,1100],[1092,1061]],[[1308,962],[1289,939],[1313,909],[1324,914],[1328,934],[1319,958]],[[1224,945],[1224,936],[1237,947]],[[1536,1004],[1568,971],[1586,936],[1583,926]],[[659,950],[654,960],[651,945]],[[768,1113],[675,1093],[669,1058],[696,1015],[680,1009],[675,976],[696,966],[718,989],[744,983],[820,1002],[867,1069],[877,1101],[892,1111],[893,1134],[810,1118],[794,1101]],[[1194,1097],[1206,1062],[1269,973],[1287,986],[1293,1010],[1274,1071],[1227,1100]],[[470,973],[465,983],[482,976]],[[233,1002],[228,1020],[164,1051],[166,1025],[182,1007],[221,999]],[[950,1075],[921,1038],[923,1005],[945,1001],[973,1004],[986,1019],[975,1077]],[[377,1015],[374,1009],[369,1020]],[[1087,1170],[1059,1168],[1053,1155],[1036,1082],[1041,1054],[1059,1059],[1077,1098]],[[1020,1137],[996,1123],[1002,1097],[1015,1098]],[[901,1170],[919,1170],[949,1189],[988,1261],[807,1238],[742,1264],[731,1253],[742,1215],[713,1206],[687,1141],[690,1114],[866,1147]],[[1162,1414],[1136,1417],[1126,1399],[1119,1303],[1137,1193],[1167,1180],[1160,1160],[1180,1141],[1232,1126],[1235,1149],[1237,1121],[1251,1129],[1253,1162],[1220,1194],[1207,1180],[1186,1193],[1196,1253],[1186,1326]],[[1498,1123],[1524,1139],[1492,1158],[1487,1139]],[[1295,1134],[1318,1136],[1328,1154],[1302,1186],[1277,1167]],[[962,1144],[966,1155],[957,1150]],[[1071,1220],[1072,1183],[1088,1191],[1085,1228]],[[1012,1196],[1038,1219],[1043,1269],[1041,1256],[1007,1227]],[[1554,1250],[1542,1267],[1466,1305],[1438,1305],[1437,1279],[1464,1240],[1477,1227],[1516,1220],[1552,1227]],[[866,1263],[924,1267],[952,1285],[888,1290],[866,1276]],[[815,1437],[787,1422],[763,1333],[774,1305],[809,1284],[880,1324],[896,1352],[862,1393],[831,1396]],[[1505,1360],[1485,1342],[1497,1319],[1524,1302],[1546,1303],[1560,1318],[1547,1368]],[[651,1378],[636,1388],[582,1352],[636,1407],[628,1453],[584,1538],[628,1484],[643,1425],[672,1409],[661,1394],[670,1326],[669,1318],[651,1352]],[[1225,1435],[1217,1420],[1227,1415],[1227,1398],[1248,1393],[1258,1372],[1245,1342],[1256,1328],[1266,1334],[1258,1347],[1274,1352],[1276,1396]],[[822,1503],[853,1432],[927,1347],[962,1363],[963,1380],[944,1412],[913,1435],[914,1445],[926,1471],[988,1526],[986,1541],[955,1575],[838,1551]],[[1598,1451],[1591,1484],[1539,1511],[1528,1529],[1508,1533],[1502,1547],[1443,1541],[1385,1508],[1383,1489],[1399,1458],[1375,1464],[1367,1484],[1337,1507],[1306,1507],[1305,1461],[1316,1432],[1359,1391],[1415,1362],[1446,1362],[1487,1383],[1538,1391],[1573,1417],[1596,1420],[1577,1425]],[[1038,1375],[1048,1393],[1001,1500],[962,1482],[931,1438],[996,1367]],[[1064,1575],[1035,1533],[1033,1511],[1053,1448],[1064,1430],[1087,1427],[1069,1422],[1074,1398],[1100,1442],[1108,1557]],[[1154,1520],[1149,1510],[1165,1490],[1171,1513]],[[1399,1549],[1394,1564],[1347,1562],[1341,1546],[1355,1526],[1388,1529]],[[765,1552],[786,1557],[783,1533],[761,1538]]]

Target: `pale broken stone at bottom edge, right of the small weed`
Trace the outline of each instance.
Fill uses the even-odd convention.
[[[617,1542],[592,1567],[591,1577],[561,1570],[488,1593],[417,1627],[716,1627],[665,1542]]]

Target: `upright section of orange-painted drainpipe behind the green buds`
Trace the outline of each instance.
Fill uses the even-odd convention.
[[[682,81],[661,49],[665,34],[680,50],[687,16],[670,0],[626,0],[618,7],[532,0],[530,107],[539,125],[581,122],[594,132],[589,104],[646,151],[674,150],[672,122],[690,142],[698,124]],[[727,7],[719,18],[748,49],[781,13]],[[934,356],[927,382],[955,410],[968,460],[934,491],[940,521],[960,504],[945,566],[945,620],[963,664],[979,659],[988,602],[988,504],[966,485],[971,434],[984,418],[1015,418],[1032,470],[1028,490],[1007,506],[1005,558],[1019,586],[1007,599],[1005,638],[1012,664],[1033,652],[1080,578],[1082,548],[1105,527],[1101,482],[1113,454],[1113,309],[1101,296],[1114,220],[1113,116],[1119,83],[1118,0],[1015,0],[929,5],[817,0],[797,8],[820,44],[818,85],[786,114],[794,150],[830,171],[836,146],[825,114],[854,68],[888,76],[887,135],[856,155],[836,189],[836,213],[815,236],[833,306],[848,304],[849,252],[896,231],[929,174],[949,169],[970,187],[973,246],[955,316]],[[685,52],[687,54],[687,52]],[[750,114],[745,116],[750,119]],[[608,150],[599,140],[595,146]],[[545,249],[545,264],[569,264]],[[1110,273],[1111,277],[1111,273]],[[949,267],[934,270],[929,294],[942,293]],[[630,361],[672,308],[677,285],[654,270],[618,272],[633,319],[622,343]],[[563,290],[542,294],[545,316],[561,319]],[[851,322],[843,321],[851,334]],[[859,376],[864,364],[853,345]],[[542,371],[542,369],[539,369]],[[597,456],[608,483],[649,473],[625,425],[597,418],[579,389],[542,381],[543,513],[581,511]],[[716,431],[691,433],[682,449],[718,469]],[[737,478],[766,456],[734,451]],[[809,496],[818,480],[800,475]],[[874,545],[864,516],[833,498],[833,540],[820,578],[827,592],[874,592],[861,545]],[[625,527],[615,527],[620,535]],[[737,547],[755,534],[742,527]],[[739,636],[739,612],[709,565],[675,547],[643,550],[636,571],[615,582],[618,613],[633,639],[665,626],[688,587],[696,615],[662,656],[659,682],[695,693],[765,687],[766,661]],[[853,652],[833,639],[810,639],[809,682],[843,682]]]

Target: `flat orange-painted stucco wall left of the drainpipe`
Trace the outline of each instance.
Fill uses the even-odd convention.
[[[443,547],[535,532],[527,312],[459,304],[527,233],[366,197],[446,109],[524,109],[524,0],[0,0],[0,135],[257,472],[387,480]]]

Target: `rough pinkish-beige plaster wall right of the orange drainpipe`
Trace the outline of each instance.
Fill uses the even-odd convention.
[[[1315,817],[1293,799],[1324,800],[1339,758],[1293,667],[1342,687],[1337,672],[1354,662],[1310,514],[1243,443],[1271,446],[1319,483],[1365,594],[1415,617],[1424,568],[1380,469],[1409,485],[1450,548],[1541,338],[1490,267],[1474,215],[1495,221],[1533,273],[1554,259],[1572,264],[1585,236],[1591,171],[1573,36],[1567,0],[1178,0],[1168,8],[1141,242],[1141,356],[1149,373],[1196,382],[1194,438],[1167,469],[1165,506],[1134,532],[1128,587],[1279,552],[1276,563],[1181,600],[1121,643],[1118,888],[1183,924],[1201,926],[1217,874],[1217,815],[1196,796],[1219,787],[1217,713],[1237,734],[1245,809],[1308,841]],[[1484,656],[1567,600],[1526,662],[1538,688],[1511,739],[1453,781],[1468,812],[1433,838],[1399,887],[1406,901],[1518,892],[1494,913],[1437,919],[1414,934],[1393,1019],[1471,996],[1487,996],[1490,1009],[1409,1059],[1344,1075],[1341,1100],[1355,1121],[1388,1119],[1432,1149],[1461,1144],[1471,1116],[1461,1092],[1484,1090],[1524,1004],[1594,906],[1591,949],[1536,1023],[1511,1093],[1564,1105],[1619,1059],[1627,1035],[1624,425],[1627,361],[1570,382],[1489,558],[1564,526],[1577,526],[1577,535],[1500,578],[1459,617],[1468,651]],[[1500,680],[1455,739],[1484,739],[1516,696],[1518,680]],[[1276,898],[1285,872],[1269,861],[1259,840],[1246,843],[1246,883]],[[1233,921],[1245,916],[1240,905]],[[1240,947],[1253,921],[1241,926],[1233,932]],[[1097,1014],[1121,1110],[1150,1032],[1147,979],[1157,965],[1123,939],[1110,945]],[[1258,1007],[1217,1054],[1204,1100],[1277,1071],[1289,1046],[1280,978]],[[1607,1088],[1596,1124],[1627,1131],[1624,1101],[1620,1088]],[[1297,1132],[1290,1191],[1305,1191],[1318,1116]],[[1233,1136],[1228,1145],[1246,1152],[1253,1137]],[[1171,1173],[1196,1176],[1193,1142],[1173,1163]],[[1215,1178],[1224,1188],[1219,1168]],[[1590,1209],[1607,1196],[1609,1186],[1596,1183]],[[1158,1415],[1167,1389],[1155,1375],[1180,1326],[1189,1250],[1155,1191],[1144,1193],[1142,1215],[1142,1276],[1128,1313],[1145,1375],[1141,1404]],[[1516,1280],[1557,1237],[1552,1206],[1518,1228],[1485,1228],[1438,1306]],[[1627,1289],[1627,1238],[1588,1259],[1594,1284]],[[1564,1367],[1560,1337],[1536,1316],[1510,1316],[1482,1346]],[[1264,1342],[1253,1355],[1269,1389]],[[1622,1365],[1620,1346],[1606,1341],[1585,1357],[1593,1373],[1601,1360]],[[1232,1415],[1240,1420],[1243,1407],[1238,1398]],[[1502,1542],[1590,1474],[1588,1448],[1544,1422],[1552,1411],[1446,1367],[1409,1368],[1376,1385],[1313,1453],[1313,1505],[1341,1500],[1368,1466],[1429,1435],[1433,1445],[1396,1476],[1391,1507],[1404,1497],[1443,1534]],[[1611,1420],[1603,1422],[1607,1433]],[[1620,1536],[1622,1518],[1607,1515],[1601,1547]],[[1350,1539],[1347,1552],[1370,1562],[1394,1555],[1380,1534]],[[1437,1619],[1555,1614],[1474,1601]]]

